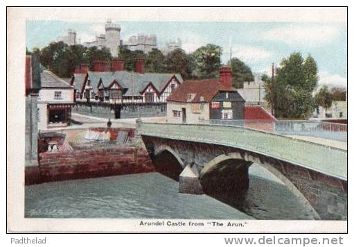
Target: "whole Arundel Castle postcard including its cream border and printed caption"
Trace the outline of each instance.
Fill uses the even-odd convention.
[[[345,7],[8,8],[8,231],[346,232],[347,32]]]

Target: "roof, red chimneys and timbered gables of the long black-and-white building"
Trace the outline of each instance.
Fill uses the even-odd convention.
[[[144,60],[136,60],[135,71],[124,71],[123,60],[113,59],[111,69],[105,61],[94,61],[76,70],[71,85],[76,101],[105,103],[161,103],[183,83],[179,74],[145,73]]]

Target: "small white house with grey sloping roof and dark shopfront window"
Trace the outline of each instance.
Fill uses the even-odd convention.
[[[74,88],[41,65],[42,88],[38,97],[38,128],[65,127],[71,122]]]

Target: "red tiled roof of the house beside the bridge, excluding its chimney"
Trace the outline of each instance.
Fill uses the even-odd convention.
[[[167,97],[166,101],[176,102],[210,102],[219,91],[234,91],[219,80],[186,80],[177,90]],[[192,99],[189,95],[192,94]],[[203,97],[203,101],[200,98]]]

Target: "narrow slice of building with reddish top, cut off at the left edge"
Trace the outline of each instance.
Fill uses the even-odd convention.
[[[25,64],[25,166],[38,165],[38,96],[41,89],[39,59],[26,56]]]

